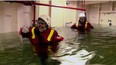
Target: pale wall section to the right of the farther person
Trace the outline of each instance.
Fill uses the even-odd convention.
[[[109,26],[109,20],[112,25],[116,25],[116,2],[105,2],[101,4],[92,4],[87,6],[88,20],[94,24]]]

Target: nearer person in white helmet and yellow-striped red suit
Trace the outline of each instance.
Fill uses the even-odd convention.
[[[28,30],[29,32],[24,36],[29,38],[31,44],[34,46],[41,64],[46,65],[48,51],[50,50],[52,53],[56,53],[58,43],[64,38],[59,36],[56,30],[51,28],[51,19],[46,15],[41,15],[36,22],[36,26],[30,27]],[[22,32],[22,34],[24,33]]]

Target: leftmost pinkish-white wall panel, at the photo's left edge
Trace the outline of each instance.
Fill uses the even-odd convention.
[[[15,4],[0,2],[0,33],[17,31],[16,10]]]

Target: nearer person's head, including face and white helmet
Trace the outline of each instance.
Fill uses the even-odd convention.
[[[47,30],[49,27],[51,27],[51,19],[49,16],[47,15],[41,15],[39,18],[38,18],[38,21],[37,21],[37,28],[39,29],[40,32],[43,32],[45,30]]]

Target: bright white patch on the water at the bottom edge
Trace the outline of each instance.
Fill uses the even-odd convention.
[[[75,55],[52,57],[52,59],[60,61],[60,65],[86,65],[87,62],[94,57],[94,55],[94,52],[88,52],[85,49],[82,49]]]

